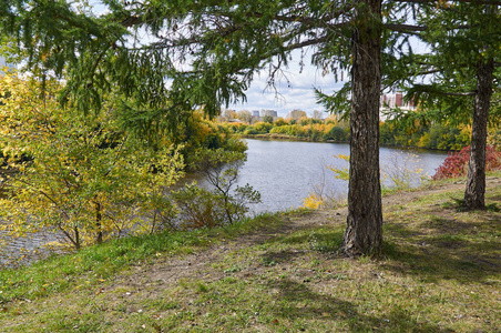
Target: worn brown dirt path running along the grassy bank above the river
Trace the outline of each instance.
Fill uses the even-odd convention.
[[[488,188],[500,185],[501,179],[488,179]],[[396,193],[382,199],[384,210],[393,204],[409,203],[422,195],[460,191],[462,189],[464,189],[464,183],[461,181],[446,185],[436,185],[420,191]],[[347,208],[340,208],[328,211],[314,211],[305,215],[286,218],[285,223],[283,223],[279,229],[262,229],[252,234],[239,236],[236,240],[227,241],[223,244],[212,246],[205,251],[190,254],[184,258],[167,258],[165,260],[156,261],[154,264],[147,266],[137,265],[134,273],[127,276],[117,276],[112,287],[133,290],[135,292],[147,291],[147,293],[155,293],[155,290],[157,289],[163,290],[175,285],[183,278],[201,278],[204,279],[204,281],[224,279],[224,272],[211,268],[221,262],[225,255],[232,252],[238,252],[247,246],[263,244],[268,240],[277,236],[284,236],[301,229],[315,225],[345,223],[347,211]],[[256,268],[255,270],[258,269]],[[250,273],[247,272],[244,274]],[[144,296],[147,297],[147,295]]]

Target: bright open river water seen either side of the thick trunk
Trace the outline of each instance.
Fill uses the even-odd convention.
[[[323,182],[324,165],[347,168],[348,163],[333,155],[349,154],[348,144],[324,142],[293,142],[246,140],[247,162],[241,171],[238,183],[249,183],[260,192],[263,203],[253,208],[256,212],[279,211],[303,204],[315,184]],[[443,152],[411,151],[416,158],[409,159],[409,151],[381,148],[380,164],[385,170],[408,168],[422,169],[429,176],[447,158]],[[323,170],[324,169],[324,170]],[[412,183],[419,183],[413,173]],[[326,185],[338,195],[345,196],[348,182],[335,179],[331,171],[325,173]]]

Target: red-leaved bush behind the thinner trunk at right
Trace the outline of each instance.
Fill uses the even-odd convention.
[[[467,174],[468,161],[470,160],[470,147],[464,147],[461,151],[451,153],[437,169],[433,180],[456,178]],[[485,149],[485,171],[501,169],[501,152],[492,145]]]

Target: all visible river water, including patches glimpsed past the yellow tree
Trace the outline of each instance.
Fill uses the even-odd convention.
[[[304,204],[314,188],[323,188],[325,194],[336,204],[346,199],[348,182],[336,179],[334,172],[324,165],[335,165],[342,169],[346,161],[335,159],[339,154],[349,154],[348,144],[323,144],[314,142],[289,142],[277,140],[246,140],[247,161],[239,170],[237,185],[252,184],[260,192],[263,202],[252,204],[253,213],[278,212],[297,209]],[[431,175],[446,158],[444,154],[432,152],[412,153],[395,149],[380,149],[381,172],[392,174],[396,170],[407,170],[409,184],[419,185],[426,174]],[[421,171],[418,171],[421,170]],[[421,175],[423,175],[421,178]],[[203,178],[191,174],[184,183],[197,181],[202,186],[211,186]],[[385,186],[393,185],[387,179]],[[181,186],[181,184],[180,184]],[[54,231],[27,234],[12,240],[0,224],[0,268],[29,264],[47,258],[57,248],[45,246],[52,242],[64,242],[64,236]]]

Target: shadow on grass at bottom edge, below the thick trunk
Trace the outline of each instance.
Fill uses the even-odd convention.
[[[388,315],[377,317],[360,313],[357,305],[311,291],[307,284],[290,280],[268,281],[268,289],[278,289],[274,312],[277,317],[289,320],[340,322],[350,332],[384,330],[390,332],[451,332],[431,323],[413,320],[402,309],[389,309]],[[315,330],[315,327],[304,327]],[[344,327],[346,329],[346,327]]]

